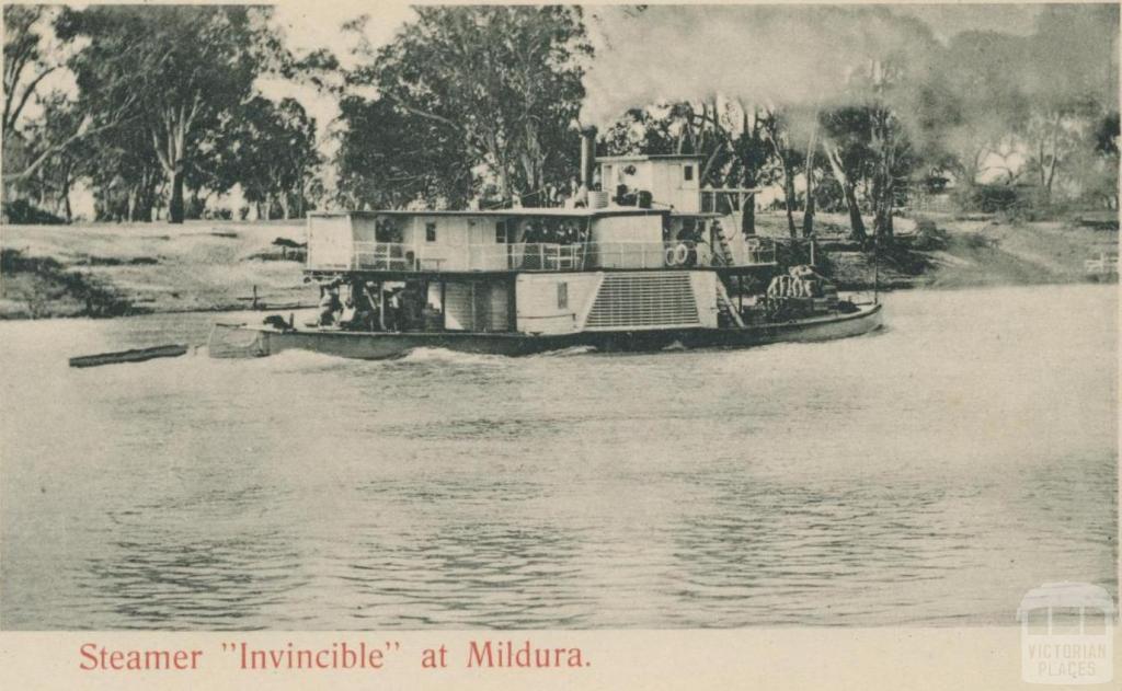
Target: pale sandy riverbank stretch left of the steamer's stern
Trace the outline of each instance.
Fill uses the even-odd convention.
[[[314,304],[303,221],[6,225],[0,319]]]

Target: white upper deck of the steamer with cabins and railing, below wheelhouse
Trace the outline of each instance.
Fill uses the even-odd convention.
[[[309,218],[307,269],[458,274],[773,266],[774,247],[666,210],[376,211]]]

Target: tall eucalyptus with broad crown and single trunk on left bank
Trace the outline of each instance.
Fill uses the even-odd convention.
[[[59,37],[86,38],[68,63],[80,102],[144,139],[169,182],[168,220],[184,219],[187,166],[205,133],[248,99],[279,59],[254,6],[89,6],[65,9]]]

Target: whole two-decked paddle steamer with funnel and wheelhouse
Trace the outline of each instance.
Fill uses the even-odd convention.
[[[693,156],[595,158],[594,142],[586,132],[562,208],[310,216],[319,319],[217,324],[210,354],[746,347],[880,325],[879,304],[839,300],[809,266],[781,267],[771,241],[719,211],[751,191],[702,188]]]

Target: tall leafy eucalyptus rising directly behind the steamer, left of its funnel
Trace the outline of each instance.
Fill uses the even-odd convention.
[[[546,185],[564,184],[576,168],[580,61],[591,54],[581,8],[415,11],[414,21],[351,73],[351,85],[375,86],[402,113],[461,139],[504,203],[532,202]]]

